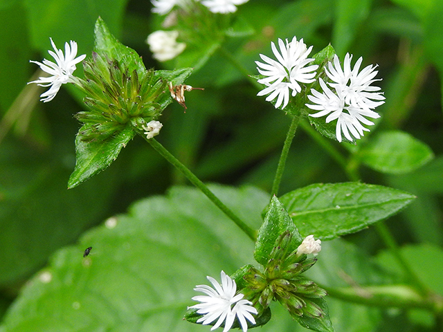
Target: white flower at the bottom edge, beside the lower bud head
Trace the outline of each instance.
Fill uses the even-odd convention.
[[[192,299],[201,303],[189,308],[196,308],[198,309],[197,313],[204,315],[197,320],[197,323],[203,322],[202,324],[206,325],[218,318],[211,331],[217,329],[224,320],[226,322],[224,323],[223,332],[228,331],[233,326],[235,316],[237,316],[243,331],[246,332],[248,331],[246,319],[255,324],[255,319],[251,313],[257,315],[257,309],[251,306],[252,302],[243,299],[244,295],[242,293],[235,295],[237,285],[233,279],[230,279],[224,271],[221,271],[220,275],[221,285],[213,277],[207,277],[215,289],[207,285],[198,285],[194,288],[194,291],[205,293],[206,295],[192,297]],[[235,306],[231,308],[233,304]]]

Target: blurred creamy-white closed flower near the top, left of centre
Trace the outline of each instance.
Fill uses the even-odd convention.
[[[185,43],[177,43],[179,37],[178,31],[158,30],[147,36],[146,42],[150,50],[154,53],[152,56],[159,61],[167,61],[177,57],[186,48]]]

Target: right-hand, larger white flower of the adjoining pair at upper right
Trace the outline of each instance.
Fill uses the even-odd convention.
[[[363,131],[369,129],[363,127],[363,124],[372,125],[374,122],[367,118],[379,118],[379,113],[374,109],[384,103],[383,93],[377,92],[381,88],[372,86],[374,77],[378,71],[374,69],[377,66],[367,66],[359,73],[363,58],[360,57],[354,68],[351,69],[352,55],[347,53],[341,68],[338,56],[334,56],[334,62],[328,63],[325,68],[327,77],[331,82],[327,84],[320,78],[320,86],[323,93],[311,89],[311,95],[308,98],[314,104],[306,104],[310,109],[318,113],[310,114],[314,118],[327,116],[326,123],[337,120],[336,138],[338,142],[342,141],[342,133],[347,140],[361,138]],[[329,69],[329,70],[328,70]],[[363,123],[363,124],[362,124]],[[352,136],[351,136],[352,135]]]

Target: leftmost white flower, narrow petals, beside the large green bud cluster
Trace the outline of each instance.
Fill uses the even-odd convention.
[[[77,68],[75,65],[81,62],[86,55],[80,55],[80,57],[75,57],[77,55],[77,43],[71,40],[71,46],[68,43],[64,44],[64,53],[62,50],[57,49],[55,46],[53,39],[51,39],[51,44],[55,50],[55,53],[52,50],[48,50],[48,53],[55,59],[55,62],[51,62],[49,60],[43,59],[42,62],[30,61],[40,66],[42,71],[52,75],[50,77],[39,77],[39,80],[28,82],[37,83],[39,86],[51,86],[48,91],[42,93],[40,97],[43,102],[49,102],[54,99],[57,92],[60,90],[60,86],[62,84],[73,82],[72,73]]]

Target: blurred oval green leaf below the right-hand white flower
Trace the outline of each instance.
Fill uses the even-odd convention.
[[[361,148],[358,154],[362,163],[386,174],[404,174],[422,167],[433,159],[428,145],[403,131],[378,133]]]

